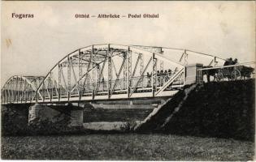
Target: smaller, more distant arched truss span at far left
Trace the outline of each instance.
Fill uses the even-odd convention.
[[[2,87],[2,103],[35,102],[37,88],[44,76],[12,76]]]

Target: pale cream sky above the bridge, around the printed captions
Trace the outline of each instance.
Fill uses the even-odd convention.
[[[13,19],[33,14],[33,19]],[[76,14],[158,14],[158,19],[76,19]],[[255,2],[2,2],[1,86],[12,75],[46,75],[68,53],[94,44],[191,49],[255,60]]]

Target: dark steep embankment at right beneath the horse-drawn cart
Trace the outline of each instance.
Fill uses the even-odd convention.
[[[187,95],[180,91],[137,130],[253,141],[254,83],[213,82],[197,85]]]

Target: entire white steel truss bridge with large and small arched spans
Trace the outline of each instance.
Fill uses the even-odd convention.
[[[189,49],[89,45],[68,53],[46,76],[12,76],[2,87],[2,104],[172,96],[186,83],[186,65],[223,62]]]

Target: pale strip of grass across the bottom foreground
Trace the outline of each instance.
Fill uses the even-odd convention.
[[[2,137],[5,160],[252,160],[254,143],[167,134]]]

